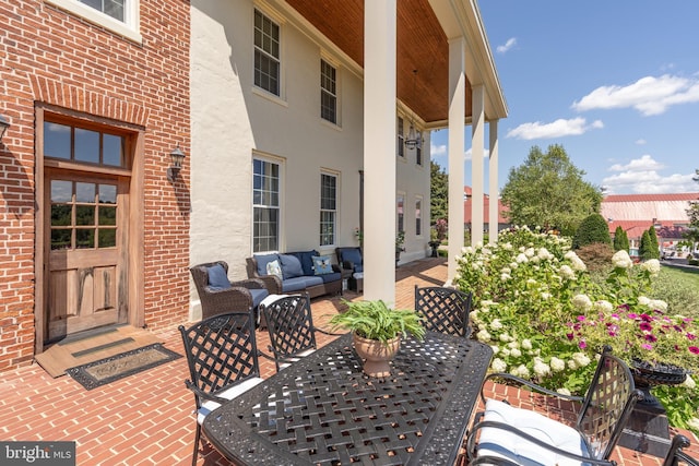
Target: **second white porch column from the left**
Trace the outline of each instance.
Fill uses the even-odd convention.
[[[466,43],[449,40],[449,265],[447,279],[457,276],[457,256],[463,249],[463,154],[466,112]]]

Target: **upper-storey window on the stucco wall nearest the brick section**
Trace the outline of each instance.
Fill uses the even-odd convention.
[[[281,96],[280,25],[254,10],[254,85]]]

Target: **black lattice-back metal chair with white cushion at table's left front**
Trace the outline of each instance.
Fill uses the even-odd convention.
[[[179,332],[185,345],[190,379],[185,381],[194,393],[197,433],[192,465],[197,465],[201,425],[206,416],[262,382],[254,338],[252,312],[217,314]]]

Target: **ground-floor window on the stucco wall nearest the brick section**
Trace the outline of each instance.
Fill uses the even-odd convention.
[[[252,252],[279,251],[281,167],[252,160]]]

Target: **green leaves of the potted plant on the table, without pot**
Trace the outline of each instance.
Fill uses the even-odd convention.
[[[334,314],[329,323],[333,330],[345,328],[384,345],[396,336],[425,337],[422,316],[413,309],[391,309],[382,300],[347,301],[347,310]]]

